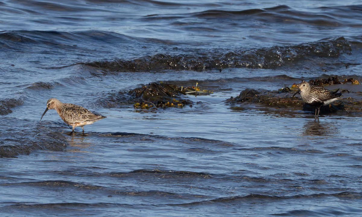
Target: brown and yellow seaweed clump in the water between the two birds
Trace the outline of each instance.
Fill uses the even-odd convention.
[[[193,102],[188,99],[183,99],[186,94],[210,94],[207,90],[199,90],[195,87],[178,87],[173,84],[150,83],[146,86],[131,90],[129,94],[140,98],[134,104],[135,108],[160,108],[160,107],[184,107]]]

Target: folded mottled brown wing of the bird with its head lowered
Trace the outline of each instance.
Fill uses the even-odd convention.
[[[104,116],[96,115],[79,105],[64,103],[63,106],[62,119],[68,123],[94,121],[96,119],[104,118]]]

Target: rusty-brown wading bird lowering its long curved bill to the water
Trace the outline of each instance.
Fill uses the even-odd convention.
[[[71,103],[62,103],[58,99],[51,98],[46,103],[46,109],[40,118],[42,120],[44,114],[49,109],[55,109],[58,112],[60,118],[68,125],[73,127],[81,126],[84,133],[84,125],[92,124],[95,121],[101,120],[105,118],[105,116],[100,116],[93,114],[88,109],[83,108],[79,105],[71,104]]]

